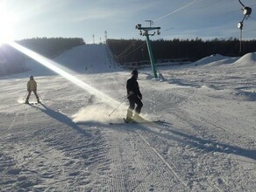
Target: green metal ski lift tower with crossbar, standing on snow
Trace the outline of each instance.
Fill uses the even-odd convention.
[[[153,70],[153,76],[154,76],[154,78],[157,78],[157,72],[156,72],[156,68],[154,65],[153,51],[152,51],[149,36],[155,35],[155,30],[157,30],[157,35],[160,35],[160,27],[152,27],[152,25],[153,25],[152,20],[146,20],[146,23],[149,24],[148,27],[142,27],[141,24],[137,24],[135,26],[135,28],[139,30],[139,34],[141,36],[146,36],[146,45],[147,45],[147,50],[148,50],[148,54],[149,54],[149,58],[150,58],[150,62],[151,62],[152,70]],[[154,32],[149,33],[149,31],[154,31]]]

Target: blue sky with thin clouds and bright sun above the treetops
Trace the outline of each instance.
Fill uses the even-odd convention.
[[[253,39],[256,0],[241,2],[252,8],[243,38]],[[104,31],[108,38],[143,38],[135,25],[146,26],[145,20],[161,27],[151,39],[239,38],[244,17],[238,0],[1,0],[0,7],[0,24],[11,25],[7,33],[14,40],[83,38],[88,44],[93,36],[103,42]]]

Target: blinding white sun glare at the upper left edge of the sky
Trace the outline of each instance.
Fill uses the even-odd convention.
[[[0,45],[13,40],[14,17],[0,8]]]

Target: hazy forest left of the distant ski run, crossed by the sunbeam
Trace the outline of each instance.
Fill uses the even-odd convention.
[[[46,58],[56,57],[63,51],[85,44],[82,38],[29,38],[16,41],[16,43],[36,51]],[[11,45],[1,45],[0,76],[29,70],[25,65],[26,58],[24,54],[15,50]]]

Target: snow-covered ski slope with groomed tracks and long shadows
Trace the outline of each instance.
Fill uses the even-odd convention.
[[[84,45],[56,58],[95,93],[33,62],[0,80],[1,191],[255,191],[255,53],[165,66],[164,82],[139,71],[142,116],[164,120],[141,125],[109,124],[125,116],[127,100],[111,102],[130,72],[106,55]],[[41,105],[20,103],[29,74]]]

